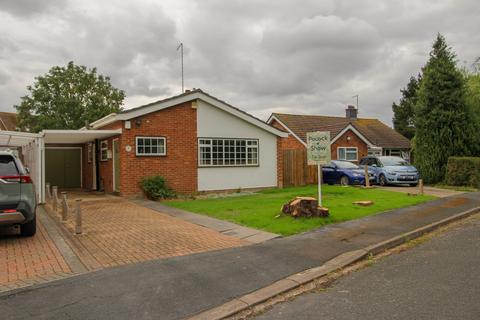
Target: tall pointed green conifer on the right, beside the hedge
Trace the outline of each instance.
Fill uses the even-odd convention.
[[[449,156],[471,151],[473,119],[455,53],[438,34],[423,68],[415,107],[415,164],[428,183],[443,180]]]

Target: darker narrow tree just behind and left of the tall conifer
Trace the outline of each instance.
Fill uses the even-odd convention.
[[[402,93],[400,102],[392,104],[393,127],[410,140],[415,136],[415,105],[421,77],[420,74],[418,78],[410,77],[407,87],[400,90]]]

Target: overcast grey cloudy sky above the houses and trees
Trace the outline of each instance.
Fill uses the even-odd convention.
[[[478,0],[0,0],[0,111],[54,65],[97,67],[125,107],[204,91],[256,116],[360,116],[391,104],[437,32],[460,65],[480,56]]]

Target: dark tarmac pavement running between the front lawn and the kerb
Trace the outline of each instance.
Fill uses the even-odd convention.
[[[466,193],[256,245],[103,269],[0,294],[0,314],[8,319],[182,319],[342,253],[479,206],[480,193]]]

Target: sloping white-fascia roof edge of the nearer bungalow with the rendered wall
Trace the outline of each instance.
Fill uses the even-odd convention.
[[[179,105],[181,103],[185,103],[185,102],[193,101],[197,99],[203,100],[225,112],[228,112],[240,119],[243,119],[244,121],[249,122],[257,127],[260,127],[261,129],[268,131],[274,135],[277,135],[280,137],[287,136],[287,134],[283,130],[279,130],[269,125],[268,123],[254,117],[253,115],[237,107],[234,107],[223,100],[220,100],[212,95],[209,95],[208,93],[202,91],[201,89],[194,89],[191,91],[187,91],[177,96],[173,96],[163,100],[158,100],[158,101],[155,101],[146,105],[142,105],[136,108],[124,110],[119,113],[111,113],[95,122],[92,122],[90,125],[94,129],[97,129],[115,121],[130,120],[148,113],[163,110],[169,107]]]

